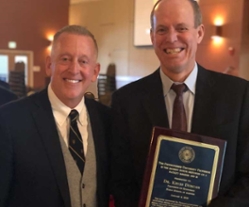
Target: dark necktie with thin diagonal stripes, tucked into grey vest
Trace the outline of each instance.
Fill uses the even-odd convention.
[[[79,113],[73,109],[70,114],[70,131],[69,131],[69,151],[73,156],[80,173],[83,174],[84,166],[85,166],[85,156],[84,156],[84,148],[82,138],[77,126],[77,119],[79,117]]]

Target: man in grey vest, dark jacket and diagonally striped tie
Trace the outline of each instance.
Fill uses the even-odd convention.
[[[108,206],[110,110],[84,98],[97,51],[84,27],[62,28],[46,59],[48,88],[1,108],[1,207]]]

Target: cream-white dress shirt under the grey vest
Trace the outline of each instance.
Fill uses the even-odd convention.
[[[71,108],[63,104],[53,92],[51,85],[48,86],[48,98],[51,103],[51,107],[53,110],[53,115],[55,119],[55,123],[57,126],[57,131],[68,147],[68,139],[69,139],[69,129],[70,129],[70,118],[68,115],[70,114]],[[87,110],[85,106],[84,96],[80,103],[74,108],[79,113],[79,118],[77,120],[77,125],[82,137],[83,146],[84,146],[84,154],[86,156],[87,152],[87,140],[88,140],[88,121],[87,121]],[[53,138],[53,137],[51,137]]]

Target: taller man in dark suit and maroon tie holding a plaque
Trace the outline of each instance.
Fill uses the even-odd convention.
[[[172,128],[173,83],[187,86],[187,132],[227,141],[219,194],[209,206],[249,206],[249,88],[246,80],[195,62],[204,35],[196,1],[159,0],[151,13],[151,40],[160,68],[113,94],[116,207],[137,206],[152,128]]]

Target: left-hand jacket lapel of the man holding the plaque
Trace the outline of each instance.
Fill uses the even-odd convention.
[[[143,104],[153,126],[169,127],[168,115],[165,106],[162,81],[159,69],[147,77],[143,91]]]

